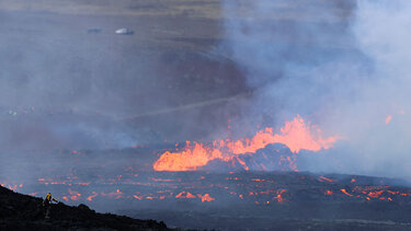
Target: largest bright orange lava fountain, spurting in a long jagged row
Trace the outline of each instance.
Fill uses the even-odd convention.
[[[284,143],[293,153],[301,149],[319,151],[329,149],[336,141],[336,137],[323,139],[321,130],[306,124],[297,116],[292,122],[286,122],[279,134],[274,134],[273,128],[265,128],[256,132],[252,139],[216,140],[213,145],[186,141],[181,152],[164,152],[153,164],[156,171],[196,171],[209,161],[238,161],[244,170],[249,170],[246,162],[238,155],[255,153],[271,143]],[[296,168],[293,168],[296,169]]]

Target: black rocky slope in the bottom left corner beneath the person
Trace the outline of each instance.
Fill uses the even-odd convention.
[[[4,187],[0,187],[0,230],[170,230],[163,222],[98,213],[83,204],[53,205],[50,219],[45,220],[42,198]]]

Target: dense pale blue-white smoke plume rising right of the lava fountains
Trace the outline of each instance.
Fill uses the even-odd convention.
[[[225,1],[228,46],[255,89],[249,116],[296,114],[342,139],[302,169],[408,177],[408,1]],[[304,158],[302,158],[304,159]]]

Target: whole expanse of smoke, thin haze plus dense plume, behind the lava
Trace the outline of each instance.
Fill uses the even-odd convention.
[[[230,132],[226,118],[238,139],[255,134],[255,125],[279,128],[298,114],[323,137],[341,137],[324,153],[299,154],[301,170],[408,177],[410,9],[406,0],[224,0],[225,34],[221,50],[214,50],[224,60],[160,47],[180,43],[161,28],[187,22],[184,15],[156,27],[151,18],[132,14],[4,10],[0,145],[121,149],[213,140]],[[138,31],[114,34],[124,26]],[[148,43],[153,35],[167,42]]]

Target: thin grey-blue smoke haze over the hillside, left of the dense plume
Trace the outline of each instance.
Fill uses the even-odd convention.
[[[242,93],[241,74],[179,41],[183,13],[145,10],[161,5],[1,2],[0,146],[122,149],[225,127],[214,119],[225,112],[208,108]]]

